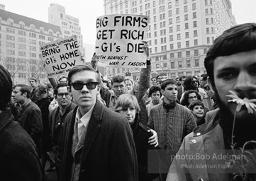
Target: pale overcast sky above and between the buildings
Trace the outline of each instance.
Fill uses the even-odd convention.
[[[255,0],[230,0],[236,23],[256,23]],[[0,0],[6,11],[48,22],[50,4],[65,6],[68,15],[79,18],[84,43],[95,44],[96,17],[104,15],[104,0]]]

